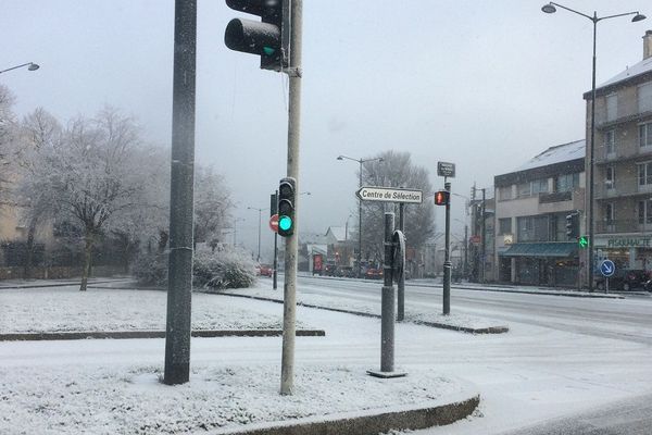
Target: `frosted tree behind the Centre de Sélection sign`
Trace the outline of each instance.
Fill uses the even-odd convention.
[[[362,166],[364,186],[404,187],[419,189],[427,195],[432,191],[425,167],[412,163],[409,152],[386,151],[374,158],[383,161],[366,162]],[[360,176],[360,174],[358,174]],[[385,211],[396,213],[398,227],[399,207],[392,203],[363,201],[362,203],[362,254],[363,259],[381,260],[385,232]],[[405,238],[409,247],[418,249],[435,233],[435,210],[431,201],[405,204]],[[358,231],[358,229],[356,229]],[[358,237],[354,235],[353,237]]]

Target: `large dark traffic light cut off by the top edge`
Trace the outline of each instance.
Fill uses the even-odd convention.
[[[259,15],[262,21],[234,18],[226,25],[224,44],[235,51],[259,54],[261,69],[281,71],[287,66],[284,13],[289,0],[226,0],[236,11]],[[287,32],[287,30],[286,30]]]

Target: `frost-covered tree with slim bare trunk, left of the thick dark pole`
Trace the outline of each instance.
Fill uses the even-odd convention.
[[[70,221],[84,234],[84,264],[79,290],[86,290],[92,249],[120,214],[139,203],[143,189],[141,146],[135,121],[106,108],[95,119],[78,117],[52,147],[39,150],[39,170],[29,190],[50,199],[60,221]]]

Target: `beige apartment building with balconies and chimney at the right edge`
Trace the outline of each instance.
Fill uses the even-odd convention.
[[[591,92],[584,98],[589,139]],[[595,263],[609,258],[618,269],[650,271],[652,30],[643,36],[643,60],[597,88],[594,144]],[[588,174],[588,159],[586,170]]]

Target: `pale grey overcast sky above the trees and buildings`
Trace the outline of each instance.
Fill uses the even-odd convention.
[[[224,28],[238,13],[199,0],[196,158],[228,182],[238,238],[255,248],[258,212],[286,174],[287,79],[259,58],[228,50]],[[543,1],[304,0],[301,229],[325,233],[356,209],[358,165],[409,151],[430,171],[456,163],[454,192],[491,186],[546,148],[585,135],[591,85],[590,20]],[[649,1],[573,0],[599,16]],[[60,120],[111,104],[135,115],[146,136],[170,147],[173,0],[3,0],[0,75],[20,115],[43,107]],[[642,60],[652,20],[598,25],[598,83]],[[464,200],[453,197],[464,220]],[[264,212],[265,213],[265,212]],[[443,213],[438,211],[438,227]],[[265,214],[264,214],[265,215]],[[349,222],[353,225],[353,220]],[[456,222],[454,231],[463,234]],[[271,232],[263,222],[263,251]]]

